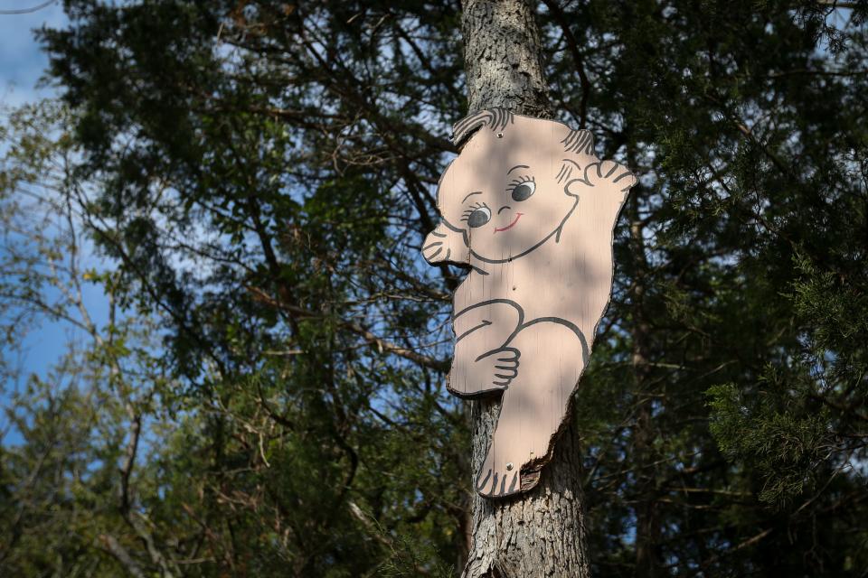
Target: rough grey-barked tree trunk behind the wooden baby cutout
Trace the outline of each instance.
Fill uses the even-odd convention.
[[[527,0],[465,0],[462,31],[469,114],[504,107],[552,117],[539,28]],[[499,402],[474,402],[474,479],[499,411]],[[580,473],[579,436],[571,422],[536,488],[512,499],[474,492],[473,543],[463,578],[589,576]]]

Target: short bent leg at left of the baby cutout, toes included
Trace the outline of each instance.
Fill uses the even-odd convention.
[[[456,342],[448,390],[461,397],[503,391],[518,373],[521,353],[505,347],[522,323],[514,302],[492,300],[457,312]]]

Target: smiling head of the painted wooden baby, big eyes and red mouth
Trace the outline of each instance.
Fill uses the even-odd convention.
[[[566,191],[568,172],[578,176],[591,160],[565,150],[569,133],[560,123],[514,117],[503,131],[471,137],[439,187],[443,220],[470,256],[508,261],[557,234],[578,202]]]

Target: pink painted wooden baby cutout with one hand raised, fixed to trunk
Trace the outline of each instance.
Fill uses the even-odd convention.
[[[612,286],[612,235],[636,179],[594,155],[588,131],[485,110],[439,182],[431,263],[470,266],[455,292],[448,389],[502,394],[476,479],[483,496],[532,489],[569,417]],[[469,139],[469,140],[468,140]]]

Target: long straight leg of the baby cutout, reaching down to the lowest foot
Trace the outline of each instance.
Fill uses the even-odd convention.
[[[509,343],[522,352],[522,368],[506,389],[500,417],[476,479],[476,490],[497,498],[533,488],[538,468],[551,458],[553,436],[588,359],[586,343],[568,324],[526,325]]]

